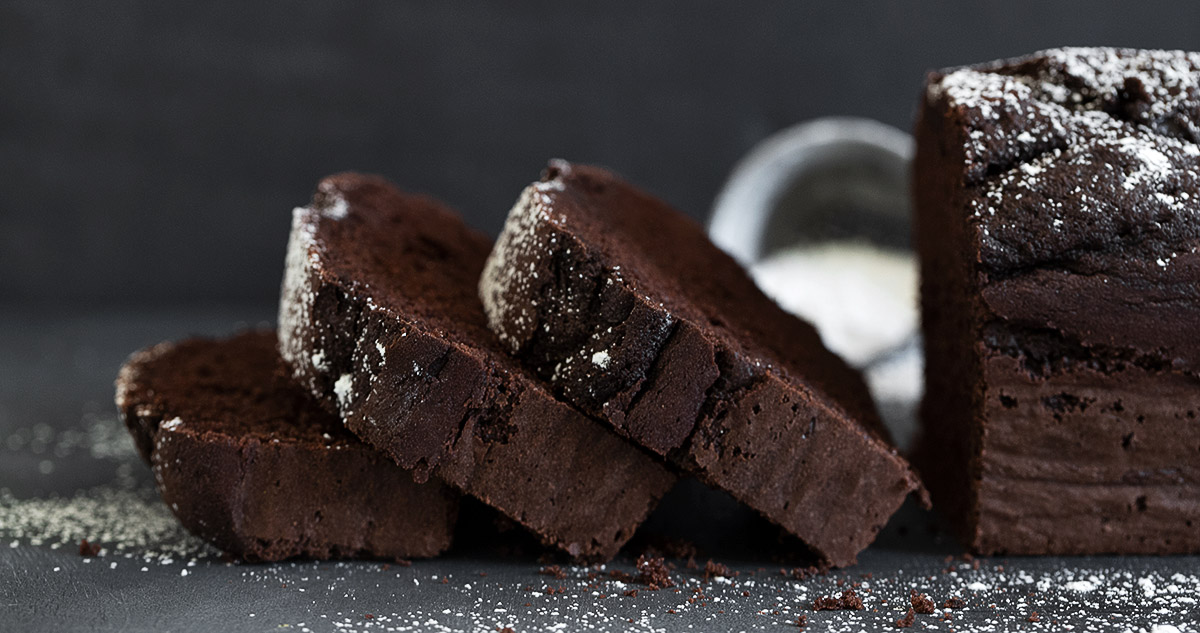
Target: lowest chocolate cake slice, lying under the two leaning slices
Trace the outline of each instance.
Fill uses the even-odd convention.
[[[354,438],[275,348],[274,332],[163,343],[121,368],[116,405],[180,523],[251,561],[446,549],[457,495]]]

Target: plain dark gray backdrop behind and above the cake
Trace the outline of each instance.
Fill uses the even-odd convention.
[[[343,169],[493,234],[552,156],[703,218],[772,132],[1063,44],[1200,49],[1200,2],[2,1],[0,302],[270,306]]]

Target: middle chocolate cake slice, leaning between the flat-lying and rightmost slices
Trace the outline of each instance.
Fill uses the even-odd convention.
[[[342,174],[294,215],[280,349],[358,436],[572,556],[607,560],[674,476],[556,399],[487,330],[491,241],[445,206]]]

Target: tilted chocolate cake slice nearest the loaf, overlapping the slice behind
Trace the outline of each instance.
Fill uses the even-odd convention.
[[[700,225],[551,163],[480,279],[488,325],[554,392],[850,565],[920,489],[857,372]]]

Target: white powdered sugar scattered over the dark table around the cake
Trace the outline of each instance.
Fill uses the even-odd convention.
[[[122,456],[120,469],[144,469],[125,435],[125,448],[94,451],[80,438],[113,441],[109,428],[72,435],[38,426],[13,432],[16,454]],[[96,468],[113,459],[96,458]],[[889,528],[892,530],[892,528]],[[887,538],[895,538],[890,536]],[[80,555],[82,541],[98,545]],[[928,547],[928,545],[922,545]],[[606,566],[539,569],[529,556],[480,560],[449,555],[408,565],[287,561],[229,565],[188,535],[148,486],[118,476],[73,494],[18,498],[0,490],[0,556],[28,578],[68,574],[85,595],[104,587],[112,599],[152,587],[154,595],[188,595],[224,610],[230,628],[362,632],[497,631],[790,631],[804,619],[810,631],[851,633],[892,629],[913,591],[932,598],[931,614],[917,615],[930,631],[1158,631],[1198,633],[1200,575],[1194,557],[962,559],[943,560],[913,545],[876,545],[860,565],[827,575],[797,577],[763,568],[763,560],[730,562],[721,575],[703,565],[676,561],[676,586],[650,590],[632,578],[620,557]],[[8,554],[12,553],[12,554]],[[36,568],[31,568],[35,566]],[[724,566],[713,566],[720,569]],[[233,583],[233,585],[230,585]],[[6,601],[23,613],[94,607],[62,601],[44,583],[18,583]],[[230,586],[234,591],[230,591]],[[116,589],[108,589],[116,587]],[[817,611],[815,601],[853,590],[864,609]],[[133,591],[134,593],[125,593]],[[943,607],[960,598],[955,607]],[[1037,611],[1037,621],[1030,615]],[[132,611],[131,611],[132,613]],[[949,620],[946,620],[946,619]],[[137,620],[131,620],[131,623]],[[241,625],[239,625],[241,622]]]

